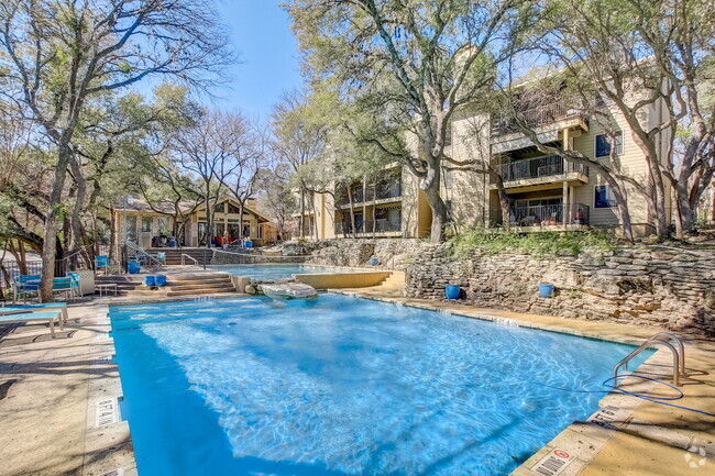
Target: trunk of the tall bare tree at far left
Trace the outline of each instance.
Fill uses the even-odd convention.
[[[57,253],[57,218],[62,203],[62,191],[65,187],[67,165],[72,159],[69,137],[59,144],[57,164],[55,165],[55,178],[50,193],[50,203],[44,228],[44,246],[42,248],[42,281],[40,285],[40,300],[51,302],[53,278],[55,277],[55,255]]]

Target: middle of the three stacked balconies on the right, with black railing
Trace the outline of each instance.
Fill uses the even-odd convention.
[[[522,187],[563,180],[588,182],[588,166],[565,162],[559,155],[514,160],[499,166],[505,187]]]

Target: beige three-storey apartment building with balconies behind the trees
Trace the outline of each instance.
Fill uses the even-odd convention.
[[[634,100],[637,97],[634,95]],[[521,117],[544,144],[559,144],[608,164],[615,148],[618,173],[637,182],[648,182],[648,169],[640,148],[634,143],[623,115],[615,107],[603,104],[607,120],[594,119],[559,103],[525,109]],[[650,126],[660,124],[662,103],[651,107],[641,118]],[[612,144],[606,130],[617,130]],[[667,141],[661,141],[664,147]],[[446,154],[457,160],[474,160],[474,167],[450,168],[444,162],[442,198],[450,219],[458,228],[504,226],[520,232],[617,229],[617,203],[604,178],[590,167],[560,156],[541,154],[534,143],[517,131],[514,123],[498,117],[471,113],[453,115],[451,142]],[[661,157],[666,157],[663,153]],[[480,169],[488,160],[503,180],[509,198],[509,215],[499,207],[496,184]],[[355,184],[351,188],[358,236],[429,236],[431,212],[418,179],[399,166],[386,169],[378,184]],[[667,191],[670,201],[671,191]],[[646,201],[626,187],[627,203],[636,235],[652,232]],[[340,197],[340,196],[338,196]],[[670,208],[670,204],[669,204]],[[329,195],[315,197],[315,213],[308,212],[301,234],[331,239],[351,235],[349,201],[333,203]],[[300,214],[296,213],[296,218]],[[317,231],[314,226],[317,223]],[[317,233],[316,233],[317,232]]]

